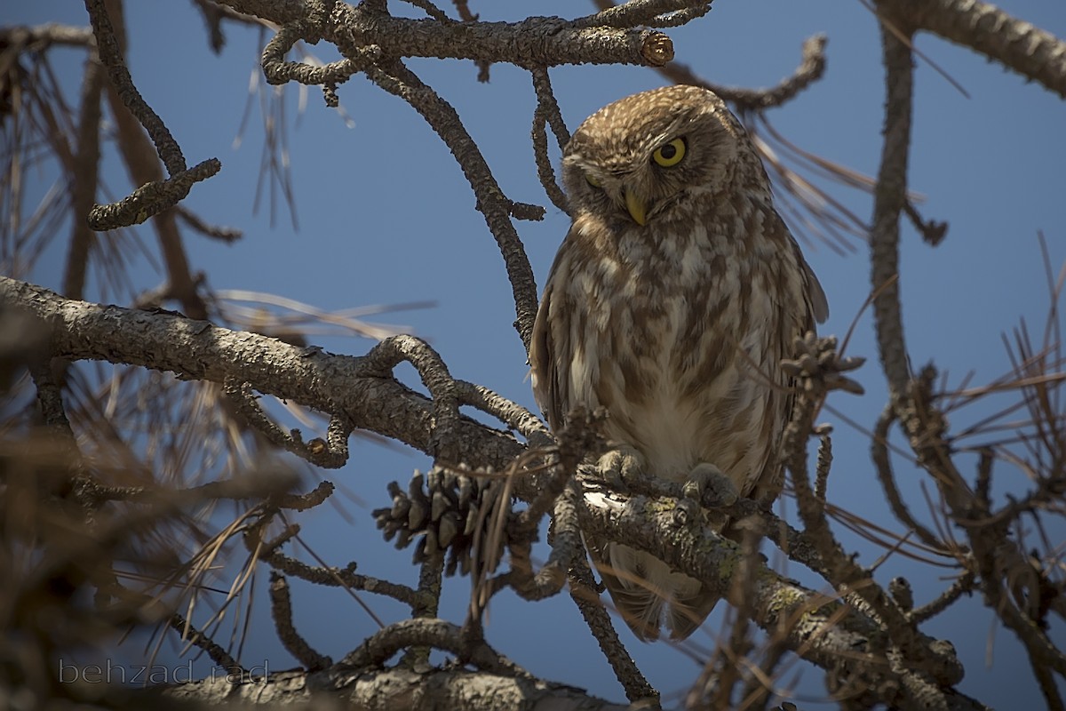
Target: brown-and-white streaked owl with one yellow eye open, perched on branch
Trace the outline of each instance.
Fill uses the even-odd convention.
[[[562,173],[572,222],[530,345],[549,425],[605,407],[627,466],[672,482],[713,471],[770,505],[792,404],[780,361],[828,306],[743,127],[704,88],[635,94],[578,128]],[[649,553],[585,544],[642,640],[664,623],[684,639],[714,607]]]

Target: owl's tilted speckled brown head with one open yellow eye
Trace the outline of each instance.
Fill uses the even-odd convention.
[[[736,181],[764,190],[765,172],[744,129],[712,92],[666,86],[610,103],[585,119],[563,151],[571,212],[646,225],[681,214],[690,199]]]

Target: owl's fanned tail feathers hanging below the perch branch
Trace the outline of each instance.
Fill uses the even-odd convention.
[[[621,618],[643,642],[659,639],[664,616],[671,637],[684,640],[718,601],[698,580],[674,571],[649,553],[618,544],[604,549],[604,560],[594,555],[593,561]]]

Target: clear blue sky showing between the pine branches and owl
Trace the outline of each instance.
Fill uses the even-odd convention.
[[[405,14],[409,10],[391,4],[404,7]],[[208,222],[245,231],[242,241],[229,246],[193,235],[187,238],[194,269],[207,272],[212,288],[273,292],[323,309],[435,301],[434,308],[388,314],[384,320],[406,324],[429,339],[455,376],[534,408],[524,353],[511,325],[514,307],[502,260],[481,214],[473,210],[473,194],[458,166],[420,116],[360,77],[339,88],[351,126],[326,109],[316,91],[301,113],[296,88],[286,90],[298,230],[284,206],[278,206],[272,225],[265,205],[253,211],[262,142],[256,108],[241,144],[235,147],[233,141],[262,38],[257,32],[230,27],[229,44],[222,56],[215,56],[208,50],[192,3],[126,5],[128,61],[142,94],[166,122],[190,164],[209,157],[223,163],[222,173],[197,184],[185,205]],[[1062,2],[1010,0],[1001,5],[1066,36]],[[592,12],[591,3],[563,0],[527,6],[538,14],[568,17]],[[518,19],[526,7],[474,1],[471,9],[482,19],[495,20]],[[0,21],[87,23],[80,3],[58,0],[9,3]],[[803,41],[818,32],[829,37],[824,79],[768,116],[801,147],[872,175],[881,152],[884,83],[876,22],[858,1],[718,0],[707,17],[669,34],[677,61],[708,80],[768,86],[791,74]],[[962,83],[969,98],[926,61],[918,61],[909,184],[925,197],[920,206],[923,215],[946,220],[950,228],[943,243],[934,248],[904,226],[901,289],[908,345],[914,363],[935,360],[948,371],[950,384],[958,384],[971,370],[973,383],[980,384],[1008,368],[1002,333],[1021,318],[1031,325],[1044,323],[1049,302],[1038,231],[1047,239],[1053,270],[1066,261],[1062,167],[1066,104],[1038,85],[936,37],[921,35],[917,47]],[[335,59],[324,44],[312,50],[325,61]],[[548,208],[543,222],[518,224],[543,287],[568,223],[547,200],[536,178],[529,140],[535,102],[528,74],[495,65],[491,81],[481,84],[470,62],[411,60],[409,66],[455,106],[508,197]],[[75,101],[81,58],[72,50],[56,50],[56,70]],[[655,71],[640,67],[560,67],[551,70],[551,78],[571,130],[599,107],[664,83]],[[35,175],[31,180],[44,189],[50,178]],[[112,197],[129,190],[114,159],[106,162],[104,180]],[[835,189],[834,195],[869,219],[868,196],[844,189]],[[865,245],[857,240],[853,244],[856,252],[846,256],[818,242],[804,244],[830,304],[831,317],[823,333],[846,333],[870,291]],[[59,286],[62,246],[49,251],[34,275],[38,282]],[[143,259],[133,262],[138,286],[157,286],[161,277],[151,265]],[[359,339],[324,339],[321,344],[350,354],[361,354],[371,345]],[[867,395],[837,394],[830,404],[872,426],[886,395],[869,313],[858,323],[850,354],[870,358],[858,375]],[[402,372],[409,383],[416,382],[410,371]],[[953,424],[978,415],[976,409],[959,414]],[[869,464],[866,436],[829,414],[823,414],[823,420],[836,425],[830,500],[898,530]],[[928,520],[923,515],[920,478],[902,462],[897,464],[908,501],[922,520]],[[386,482],[405,484],[415,468],[427,465],[424,456],[409,450],[355,440],[352,463],[325,475],[364,499],[366,510],[349,505],[355,517],[351,523],[326,507],[310,512],[301,517],[305,539],[333,564],[356,560],[368,575],[414,582],[409,552],[395,552],[381,542],[369,510],[387,502]],[[1020,474],[1002,472],[998,490],[1025,489]],[[786,503],[788,512],[793,508]],[[1062,538],[1062,527],[1057,533]],[[866,564],[883,552],[850,535],[842,537]],[[887,582],[895,575],[910,579],[919,603],[947,584],[938,579],[940,570],[917,568],[899,556],[889,559],[877,578]],[[260,586],[264,581],[265,577]],[[373,623],[345,594],[313,589],[298,581],[292,581],[292,587],[296,624],[320,651],[339,658],[372,631]],[[442,614],[462,621],[468,581],[449,580],[446,588]],[[253,630],[244,661],[254,665],[269,659],[271,668],[290,667],[292,659],[265,621],[265,589],[259,593],[256,619],[264,624]],[[404,614],[375,598],[369,602],[386,620]],[[926,631],[954,641],[967,668],[964,691],[994,707],[1035,708],[1039,696],[1020,648],[976,602],[937,618]],[[720,605],[705,626],[706,633],[694,636],[699,646],[712,644],[721,610]],[[504,594],[494,601],[487,633],[500,651],[533,673],[620,700],[617,682],[583,630],[568,596],[524,603]],[[643,645],[628,631],[623,635],[664,694],[683,691],[695,678],[697,665],[683,651],[665,644]],[[1061,632],[1057,637],[1062,640]],[[994,664],[986,668],[989,643]],[[124,653],[135,656],[135,650],[127,648]],[[802,708],[823,693],[817,678],[810,669],[804,674]]]

